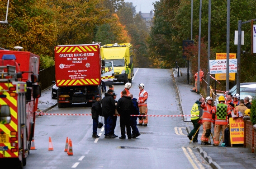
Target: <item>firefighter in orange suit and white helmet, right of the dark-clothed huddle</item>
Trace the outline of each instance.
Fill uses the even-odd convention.
[[[147,91],[144,90],[145,86],[143,83],[139,84],[138,87],[140,89],[139,98],[138,98],[140,114],[147,115]],[[137,126],[147,126],[147,122],[148,122],[147,117],[140,118]]]

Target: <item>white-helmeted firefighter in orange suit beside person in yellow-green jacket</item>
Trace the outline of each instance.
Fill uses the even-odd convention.
[[[202,115],[203,119],[203,134],[201,137],[201,145],[211,145],[209,143],[209,136],[211,135],[212,128],[212,113],[216,112],[216,107],[212,106],[213,98],[208,96],[206,97],[206,104],[202,104],[201,107],[204,109],[204,113]],[[214,121],[213,121],[214,123]]]

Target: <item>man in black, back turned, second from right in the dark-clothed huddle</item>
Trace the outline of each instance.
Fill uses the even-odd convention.
[[[132,110],[132,100],[131,97],[126,96],[127,92],[123,90],[122,97],[118,100],[116,109],[120,114],[120,128],[121,128],[121,137],[120,139],[125,139],[125,126],[126,126],[126,133],[128,139],[132,139],[131,133],[131,124],[130,124],[130,114]]]

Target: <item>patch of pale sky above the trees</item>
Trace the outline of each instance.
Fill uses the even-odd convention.
[[[136,6],[136,12],[141,11],[142,13],[150,13],[154,10],[153,2],[159,0],[124,0],[124,2],[132,2],[133,6]]]

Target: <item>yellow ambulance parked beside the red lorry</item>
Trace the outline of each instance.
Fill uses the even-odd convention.
[[[132,82],[133,45],[130,43],[107,44],[101,46],[101,57],[114,64],[114,82]]]

